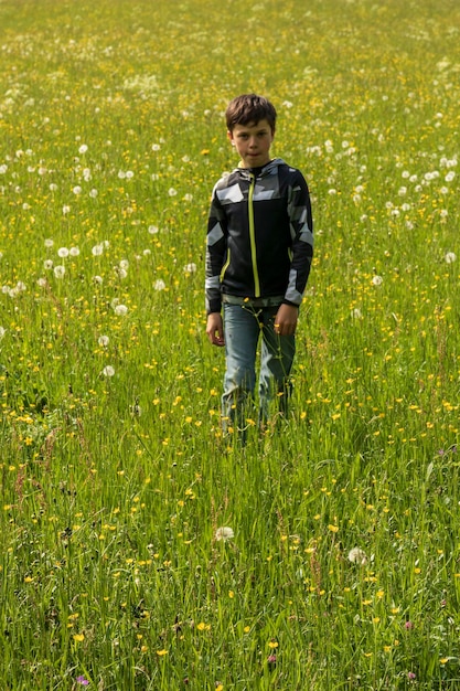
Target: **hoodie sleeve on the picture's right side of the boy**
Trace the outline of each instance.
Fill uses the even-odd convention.
[[[284,302],[299,306],[302,301],[313,258],[313,219],[307,182],[299,170],[293,171],[291,169],[291,171],[293,177],[289,187],[288,215],[292,259]]]

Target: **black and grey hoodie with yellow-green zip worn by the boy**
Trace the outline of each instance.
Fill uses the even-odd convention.
[[[299,170],[276,158],[221,178],[207,224],[207,313],[221,311],[225,295],[300,305],[312,256],[310,195]]]

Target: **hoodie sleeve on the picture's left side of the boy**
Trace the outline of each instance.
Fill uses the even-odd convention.
[[[227,255],[227,227],[223,208],[214,187],[206,236],[205,299],[206,313],[220,312],[222,308],[221,272]]]

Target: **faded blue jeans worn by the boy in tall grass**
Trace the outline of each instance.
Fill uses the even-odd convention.
[[[261,334],[258,385],[258,422],[264,424],[277,398],[277,411],[286,413],[290,394],[289,374],[296,353],[295,336],[275,332],[278,307],[254,307],[224,302],[226,372],[222,396],[224,429],[242,430],[252,418],[256,387],[256,354]]]

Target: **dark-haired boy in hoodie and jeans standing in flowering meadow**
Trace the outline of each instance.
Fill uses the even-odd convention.
[[[227,137],[240,162],[212,194],[206,333],[213,346],[225,346],[224,429],[236,427],[244,435],[260,333],[259,423],[267,422],[274,394],[278,410],[286,412],[299,306],[313,255],[313,225],[301,172],[270,158],[274,105],[256,94],[243,94],[229,103],[225,116]]]

